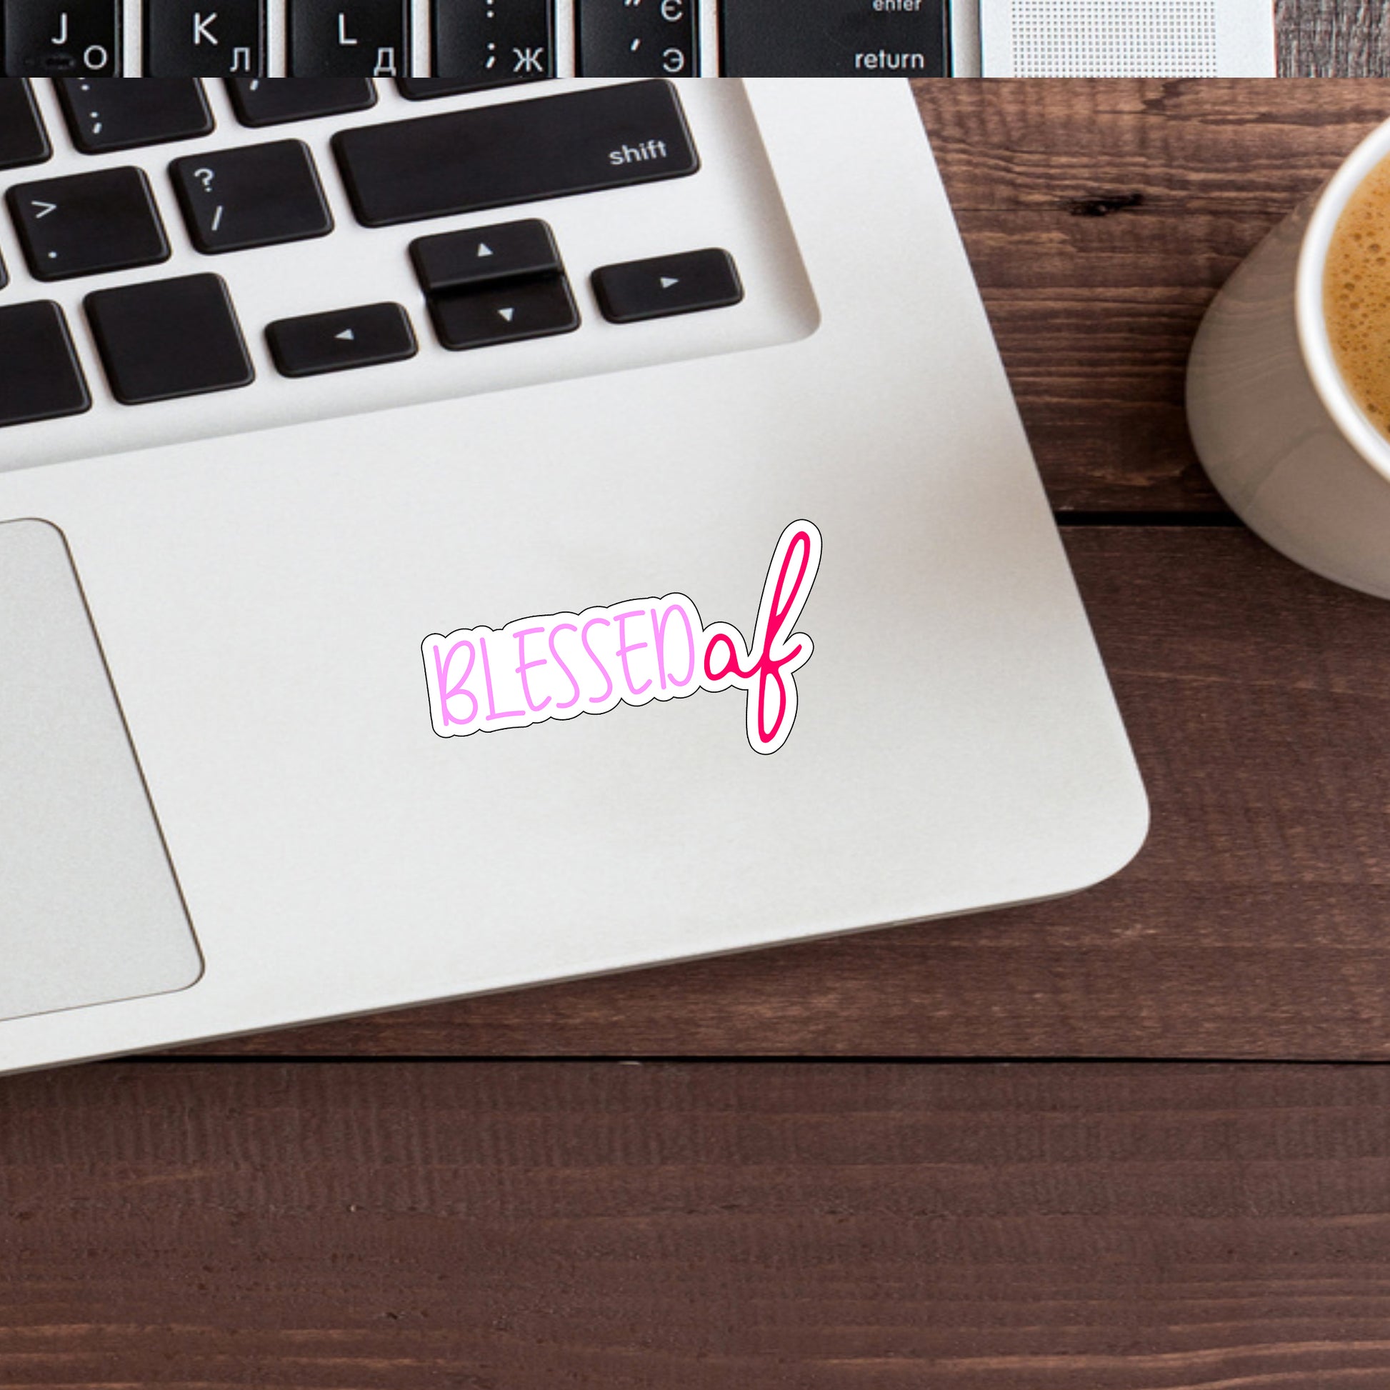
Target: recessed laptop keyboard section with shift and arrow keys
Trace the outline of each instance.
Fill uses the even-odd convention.
[[[0,82],[0,467],[813,329],[741,83],[403,88]]]

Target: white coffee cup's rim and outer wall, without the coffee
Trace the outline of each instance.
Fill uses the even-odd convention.
[[[1187,420],[1230,509],[1291,560],[1390,598],[1390,439],[1337,371],[1323,267],[1347,200],[1390,157],[1390,121],[1236,270],[1202,320]]]

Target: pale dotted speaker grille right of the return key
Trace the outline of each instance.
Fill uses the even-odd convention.
[[[1218,0],[1012,0],[1020,78],[1212,78]]]

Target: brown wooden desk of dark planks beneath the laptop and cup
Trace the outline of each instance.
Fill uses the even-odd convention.
[[[1390,1055],[1390,605],[1234,525],[1180,409],[1390,83],[917,95],[1148,848],[1044,908],[0,1083],[0,1382],[1390,1384],[1390,1069],[1055,1061]]]

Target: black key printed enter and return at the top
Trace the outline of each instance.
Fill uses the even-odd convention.
[[[723,0],[728,76],[951,75],[948,0]]]

